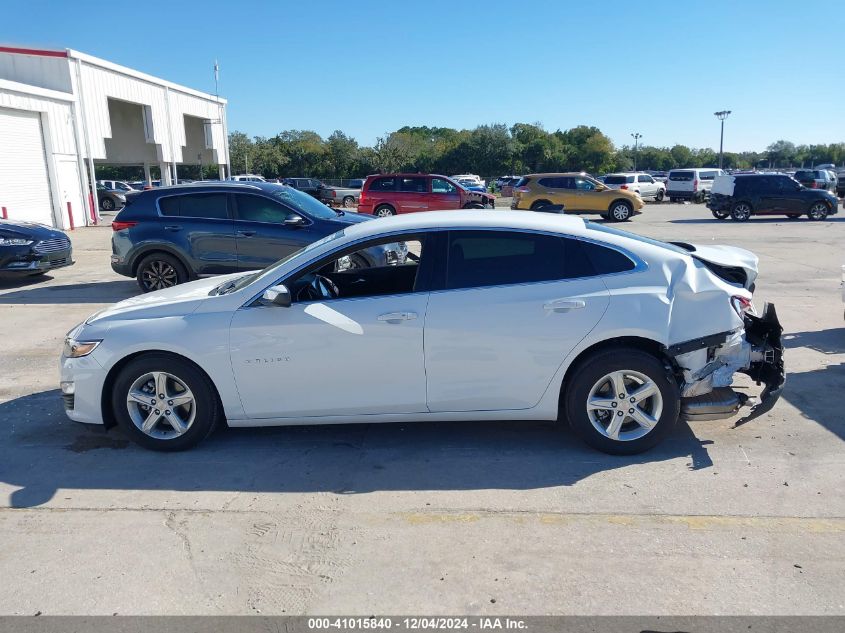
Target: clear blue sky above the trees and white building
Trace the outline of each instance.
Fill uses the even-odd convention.
[[[3,0],[0,42],[74,48],[229,99],[229,128],[596,125],[617,145],[845,141],[845,12],[795,0]],[[140,7],[144,7],[141,9]],[[34,12],[37,11],[37,15]],[[812,12],[811,12],[812,13]]]

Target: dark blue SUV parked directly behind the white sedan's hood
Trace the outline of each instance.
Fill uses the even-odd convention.
[[[111,266],[144,292],[200,276],[257,270],[356,222],[272,183],[190,184],[131,192],[112,222]],[[401,244],[367,249],[348,268],[402,263]]]

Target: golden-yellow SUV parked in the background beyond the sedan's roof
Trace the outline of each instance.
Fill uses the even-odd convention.
[[[636,193],[611,189],[587,174],[529,174],[513,188],[511,209],[537,211],[559,204],[564,213],[598,213],[618,222],[642,213],[645,205]]]

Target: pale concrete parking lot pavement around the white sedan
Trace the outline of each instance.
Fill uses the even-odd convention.
[[[690,204],[622,227],[757,253],[787,347],[770,413],[635,457],[535,422],[223,429],[177,454],[75,424],[64,335],[138,293],[109,227],[77,229],[76,265],[0,282],[0,612],[845,614],[843,227]]]

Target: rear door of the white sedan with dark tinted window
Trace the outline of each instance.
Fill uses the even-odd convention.
[[[601,319],[606,286],[558,235],[454,230],[445,259],[426,315],[429,410],[533,407]]]

